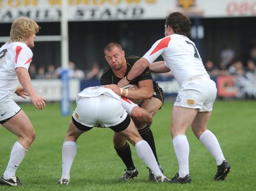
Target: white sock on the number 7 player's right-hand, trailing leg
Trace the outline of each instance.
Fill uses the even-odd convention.
[[[215,158],[217,165],[221,165],[223,160],[225,160],[225,157],[222,153],[222,150],[220,148],[220,144],[215,137],[214,134],[212,134],[211,131],[206,130],[200,137],[199,140],[204,144],[204,146],[210,151],[212,156]]]

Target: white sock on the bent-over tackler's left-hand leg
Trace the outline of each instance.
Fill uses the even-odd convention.
[[[62,147],[62,176],[61,179],[65,178],[70,180],[70,169],[72,167],[74,158],[76,157],[76,142],[65,141]]]

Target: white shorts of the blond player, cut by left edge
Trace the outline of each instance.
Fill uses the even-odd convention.
[[[0,121],[12,118],[19,111],[19,105],[17,105],[12,98],[2,98],[0,100]]]

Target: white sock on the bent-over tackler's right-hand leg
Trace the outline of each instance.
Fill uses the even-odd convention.
[[[154,173],[154,176],[164,176],[160,171],[159,166],[156,162],[156,158],[147,141],[139,141],[135,144],[135,149],[138,154],[138,157],[145,162],[145,164],[150,168]]]

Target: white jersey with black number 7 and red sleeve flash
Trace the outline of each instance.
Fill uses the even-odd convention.
[[[207,74],[195,43],[186,36],[172,34],[157,40],[143,57],[153,63],[160,55],[179,86],[189,77]]]

